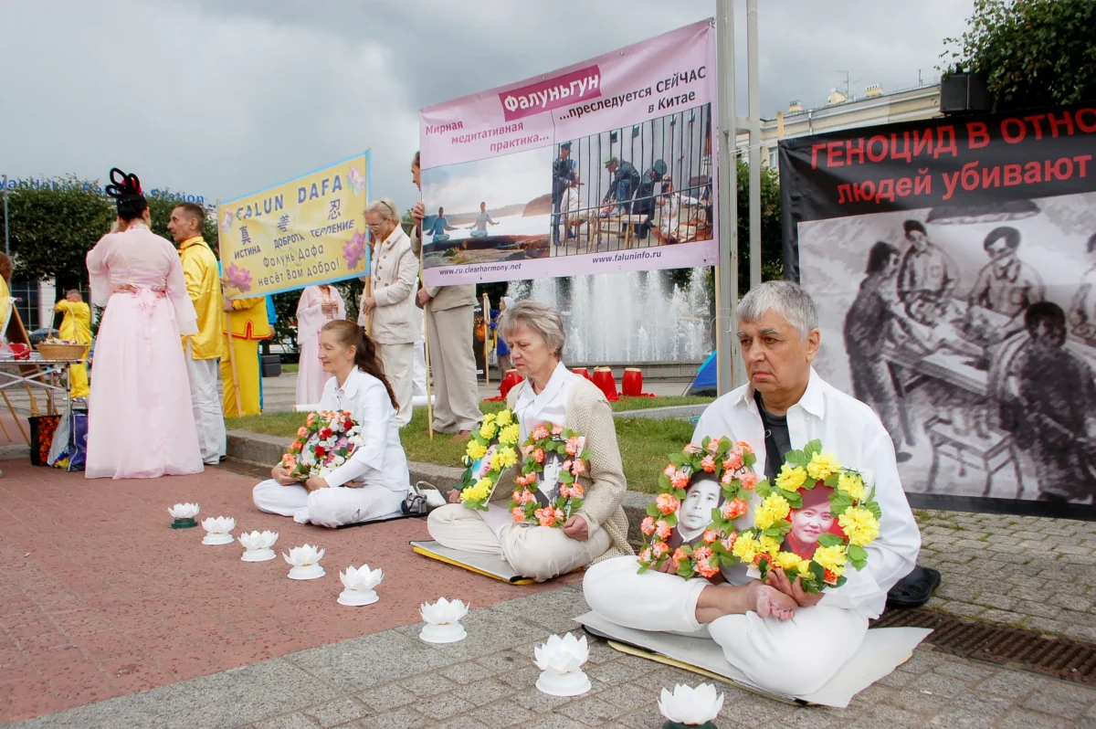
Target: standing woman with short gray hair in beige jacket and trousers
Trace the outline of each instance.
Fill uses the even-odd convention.
[[[422,317],[414,305],[419,259],[411,250],[411,239],[400,227],[392,201],[369,203],[365,208],[365,225],[373,248],[373,289],[362,297],[357,323],[368,324],[367,333],[377,344],[385,376],[396,394],[396,422],[403,428],[411,422],[414,343],[422,327]]]

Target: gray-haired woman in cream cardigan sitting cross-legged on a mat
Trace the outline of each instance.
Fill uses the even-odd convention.
[[[522,443],[538,425],[562,425],[586,438],[590,468],[579,476],[582,508],[562,528],[515,524],[506,508],[513,492],[503,477],[488,512],[452,503],[430,514],[431,536],[446,547],[502,556],[515,572],[543,582],[592,562],[633,554],[620,501],[627,485],[613,411],[600,389],[563,366],[563,324],[551,307],[525,300],[509,307],[499,337],[524,380],[507,396]],[[550,485],[547,485],[550,487]],[[452,498],[459,498],[453,491]]]

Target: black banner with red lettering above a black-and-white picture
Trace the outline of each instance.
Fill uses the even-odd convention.
[[[1096,106],[780,143],[815,366],[916,506],[1096,519]]]

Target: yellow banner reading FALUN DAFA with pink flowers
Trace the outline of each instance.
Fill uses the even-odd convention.
[[[228,298],[364,276],[369,152],[217,205]]]

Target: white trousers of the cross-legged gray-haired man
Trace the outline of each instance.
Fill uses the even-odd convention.
[[[710,637],[731,665],[773,693],[802,696],[818,691],[853,657],[868,630],[866,617],[822,605],[800,607],[790,620],[750,612],[700,625],[696,604],[710,586],[707,580],[639,574],[637,569],[635,557],[590,568],[582,589],[591,610],[626,628]]]

